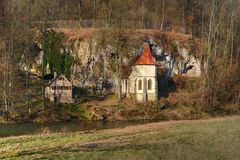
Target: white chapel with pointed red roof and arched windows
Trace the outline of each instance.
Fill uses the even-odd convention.
[[[137,102],[157,100],[157,70],[148,44],[134,62],[128,79],[123,79],[121,84],[122,93],[127,98]]]

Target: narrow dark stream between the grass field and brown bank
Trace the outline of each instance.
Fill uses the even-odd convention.
[[[39,134],[42,132],[79,132],[91,130],[103,130],[111,128],[123,128],[131,125],[146,124],[153,121],[113,121],[113,122],[54,122],[54,123],[18,123],[0,124],[0,137]]]

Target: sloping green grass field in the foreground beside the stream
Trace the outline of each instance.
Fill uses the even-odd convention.
[[[240,117],[0,138],[0,159],[240,159]]]

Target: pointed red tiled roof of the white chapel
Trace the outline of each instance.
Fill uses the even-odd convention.
[[[154,65],[153,57],[148,44],[144,45],[143,53],[138,57],[135,65]]]

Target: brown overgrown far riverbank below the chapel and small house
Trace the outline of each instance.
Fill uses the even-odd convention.
[[[18,111],[8,120],[0,117],[2,123],[52,123],[79,121],[166,121],[194,120],[211,117],[224,117],[240,114],[239,104],[221,105],[206,110],[196,105],[193,95],[179,91],[158,102],[136,103],[131,99],[121,101],[113,95],[99,100],[96,95],[81,97],[74,104],[46,103],[44,107],[32,107],[31,113]],[[1,116],[1,115],[0,115]]]

